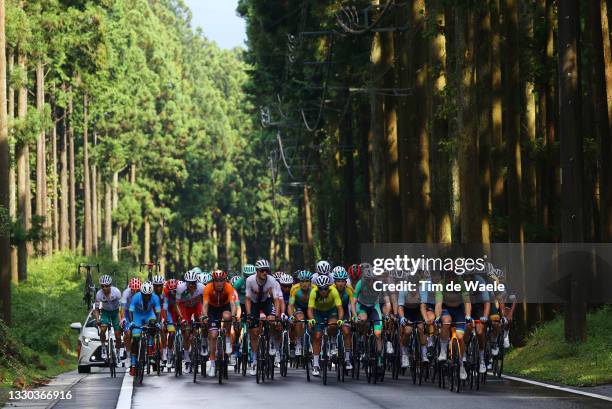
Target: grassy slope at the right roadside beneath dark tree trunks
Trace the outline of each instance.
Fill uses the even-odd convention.
[[[504,371],[540,381],[572,386],[612,383],[612,307],[587,316],[587,341],[567,343],[563,336],[563,317],[537,328],[522,348],[506,356]]]

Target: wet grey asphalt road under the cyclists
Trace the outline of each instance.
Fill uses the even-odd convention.
[[[63,401],[9,402],[7,408],[87,408],[113,409],[123,381],[123,369],[117,378],[110,378],[107,370],[95,370],[90,375],[75,372],[62,376],[43,387],[47,390],[63,388],[72,391],[72,399]],[[129,375],[128,375],[129,376]],[[480,391],[465,390],[460,394],[440,390],[437,385],[412,385],[408,378],[397,381],[385,379],[377,385],[369,385],[365,379],[359,381],[346,378],[338,384],[330,378],[323,385],[320,378],[311,382],[301,370],[290,370],[287,378],[278,373],[275,379],[257,385],[255,378],[242,377],[230,371],[229,380],[218,385],[216,379],[198,378],[194,384],[188,374],[175,378],[173,373],[145,376],[142,386],[134,387],[132,408],[196,408],[209,404],[220,404],[224,409],[245,408],[496,408],[496,409],[575,409],[611,408],[607,401],[551,390],[522,382],[491,380]],[[131,382],[131,379],[130,379]]]

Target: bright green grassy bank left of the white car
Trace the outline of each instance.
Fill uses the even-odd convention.
[[[58,253],[30,260],[28,280],[13,286],[13,324],[0,323],[0,406],[9,389],[76,368],[76,333],[69,325],[85,318],[84,278],[76,274],[77,265],[85,262],[100,263],[103,273],[128,268],[107,256]]]

